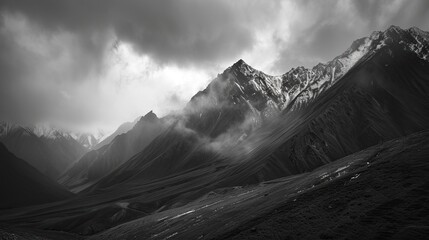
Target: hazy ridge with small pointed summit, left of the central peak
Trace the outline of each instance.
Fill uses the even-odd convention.
[[[163,128],[164,123],[152,111],[149,112],[128,132],[117,135],[110,143],[85,154],[59,182],[79,190],[87,187],[143,150]]]

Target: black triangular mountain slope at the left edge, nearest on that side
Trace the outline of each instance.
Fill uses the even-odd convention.
[[[53,202],[71,194],[0,143],[0,209]]]

